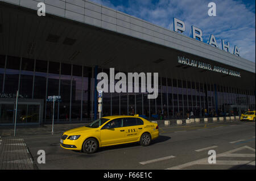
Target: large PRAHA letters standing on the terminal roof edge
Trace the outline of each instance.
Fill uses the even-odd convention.
[[[177,18],[174,18],[174,31],[183,33],[186,30],[185,23]],[[203,42],[203,31],[200,28],[192,26],[192,37],[193,39],[199,40]],[[208,40],[208,45],[213,45],[214,47],[218,48],[218,44],[214,35],[210,35]],[[222,50],[231,53],[229,42],[221,40]],[[234,45],[233,54],[240,56],[240,52],[238,47]]]

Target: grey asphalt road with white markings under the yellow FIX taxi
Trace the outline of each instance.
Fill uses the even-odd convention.
[[[150,146],[126,144],[85,154],[65,150],[59,136],[24,137],[38,169],[255,169],[255,122],[161,127]],[[38,150],[46,163],[37,163]],[[214,150],[216,163],[208,163]]]

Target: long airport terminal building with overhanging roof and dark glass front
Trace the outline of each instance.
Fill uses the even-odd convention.
[[[42,0],[46,16],[39,16],[39,2],[0,0],[0,125],[14,124],[17,91],[19,124],[51,123],[53,95],[61,96],[55,123],[96,119],[96,77],[110,68],[158,73],[158,97],[147,99],[141,89],[104,92],[103,116],[176,119],[191,111],[207,117],[255,110],[255,63],[236,47],[230,53],[233,47],[227,52],[87,0]]]

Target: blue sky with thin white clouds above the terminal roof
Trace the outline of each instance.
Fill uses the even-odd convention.
[[[241,57],[255,62],[255,1],[251,0],[92,0],[93,2],[125,12],[173,30],[173,18],[185,23],[186,36],[191,36],[191,26],[203,31],[207,43],[210,34],[216,37],[218,47],[221,39],[234,45]],[[208,16],[208,3],[216,3],[217,16]]]

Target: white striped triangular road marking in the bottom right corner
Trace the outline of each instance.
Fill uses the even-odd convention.
[[[249,149],[249,150],[255,152],[255,149],[250,148],[250,146],[242,146],[237,149],[233,149],[233,150],[229,150],[224,153],[221,153],[221,154],[217,154],[216,158],[225,157],[226,155],[231,155],[232,153],[234,153],[236,151],[243,150],[243,149]],[[237,154],[234,154],[234,155],[236,156]],[[242,165],[242,164],[243,165],[255,165],[255,161],[254,160],[253,161],[220,161],[220,160],[217,160],[216,163],[214,163],[212,165],[218,165],[218,164],[220,164],[220,165]],[[208,157],[207,157],[207,158],[198,159],[196,161],[184,163],[182,165],[170,167],[165,170],[180,170],[180,169],[184,169],[185,167],[189,167],[189,166],[193,166],[193,165],[210,165],[210,164],[208,163]]]

